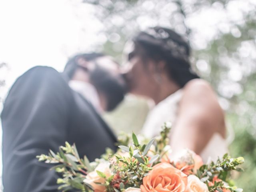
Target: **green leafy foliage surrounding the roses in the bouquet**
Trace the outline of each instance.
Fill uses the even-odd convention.
[[[168,146],[170,128],[171,124],[165,123],[159,138],[153,138],[148,143],[141,143],[136,134],[132,133],[130,138],[132,144],[119,146],[120,150],[115,154],[111,154],[112,150],[107,149],[102,159],[96,159],[95,162],[92,162],[98,163],[96,168],[91,166],[86,156],[80,159],[75,144],[71,146],[68,142],[65,146],[60,146],[57,154],[50,150],[48,155],[42,154],[37,158],[39,161],[57,164],[53,168],[56,172],[62,174],[62,178],[57,180],[57,184],[60,184],[58,189],[62,191],[76,189],[81,192],[92,192],[94,189],[88,183],[89,172],[92,172],[94,177],[97,174],[98,178],[103,179],[103,182],[96,179],[94,183],[105,186],[106,192],[121,192],[129,187],[140,188],[143,184],[143,178],[150,174],[155,164],[162,162],[160,160],[161,154],[169,152],[169,148],[166,147]],[[108,156],[108,159],[106,156]],[[114,161],[114,157],[116,161]],[[224,183],[229,182],[230,171],[242,170],[239,167],[242,163],[244,163],[244,158],[231,158],[228,154],[225,154],[222,160],[218,159],[215,163],[201,166],[197,170],[196,176],[206,183],[210,192],[221,192],[224,189],[231,192],[242,191],[233,184],[227,186]],[[98,167],[103,164],[106,165],[106,173],[98,170]],[[170,164],[176,167],[174,162],[170,161]],[[182,171],[182,169],[180,170]]]

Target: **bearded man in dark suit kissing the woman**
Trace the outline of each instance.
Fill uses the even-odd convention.
[[[5,192],[56,192],[58,175],[37,155],[76,143],[80,156],[100,157],[116,137],[100,117],[125,94],[118,64],[103,54],[78,54],[60,74],[37,66],[12,86],[2,111]]]

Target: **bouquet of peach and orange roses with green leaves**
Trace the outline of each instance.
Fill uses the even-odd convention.
[[[172,155],[168,145],[171,124],[166,122],[160,136],[146,142],[132,133],[123,136],[117,152],[110,149],[102,158],[89,162],[80,158],[75,144],[66,142],[59,152],[37,156],[56,164],[59,190],[80,192],[241,192],[230,180],[232,170],[241,171],[244,158],[221,159],[203,164],[200,156],[184,149]]]

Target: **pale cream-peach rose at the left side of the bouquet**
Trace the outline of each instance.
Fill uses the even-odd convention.
[[[95,182],[104,184],[105,179],[98,176],[96,170],[104,173],[107,178],[110,177],[111,171],[110,171],[109,162],[102,162],[102,163],[98,164],[98,166],[95,168],[95,170],[93,172],[90,172],[88,175],[86,175],[86,179],[84,179],[85,183],[88,183],[89,185],[91,185],[93,187],[94,192],[103,192],[106,189],[106,187],[103,185],[96,184]]]

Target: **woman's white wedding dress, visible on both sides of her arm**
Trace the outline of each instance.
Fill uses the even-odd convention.
[[[146,122],[142,128],[142,134],[147,138],[152,138],[160,133],[161,126],[166,121],[175,122],[178,103],[182,97],[182,89],[168,96],[157,104],[148,114]],[[219,133],[215,133],[204,150],[200,154],[204,163],[209,160],[216,161],[228,152],[228,144]]]

